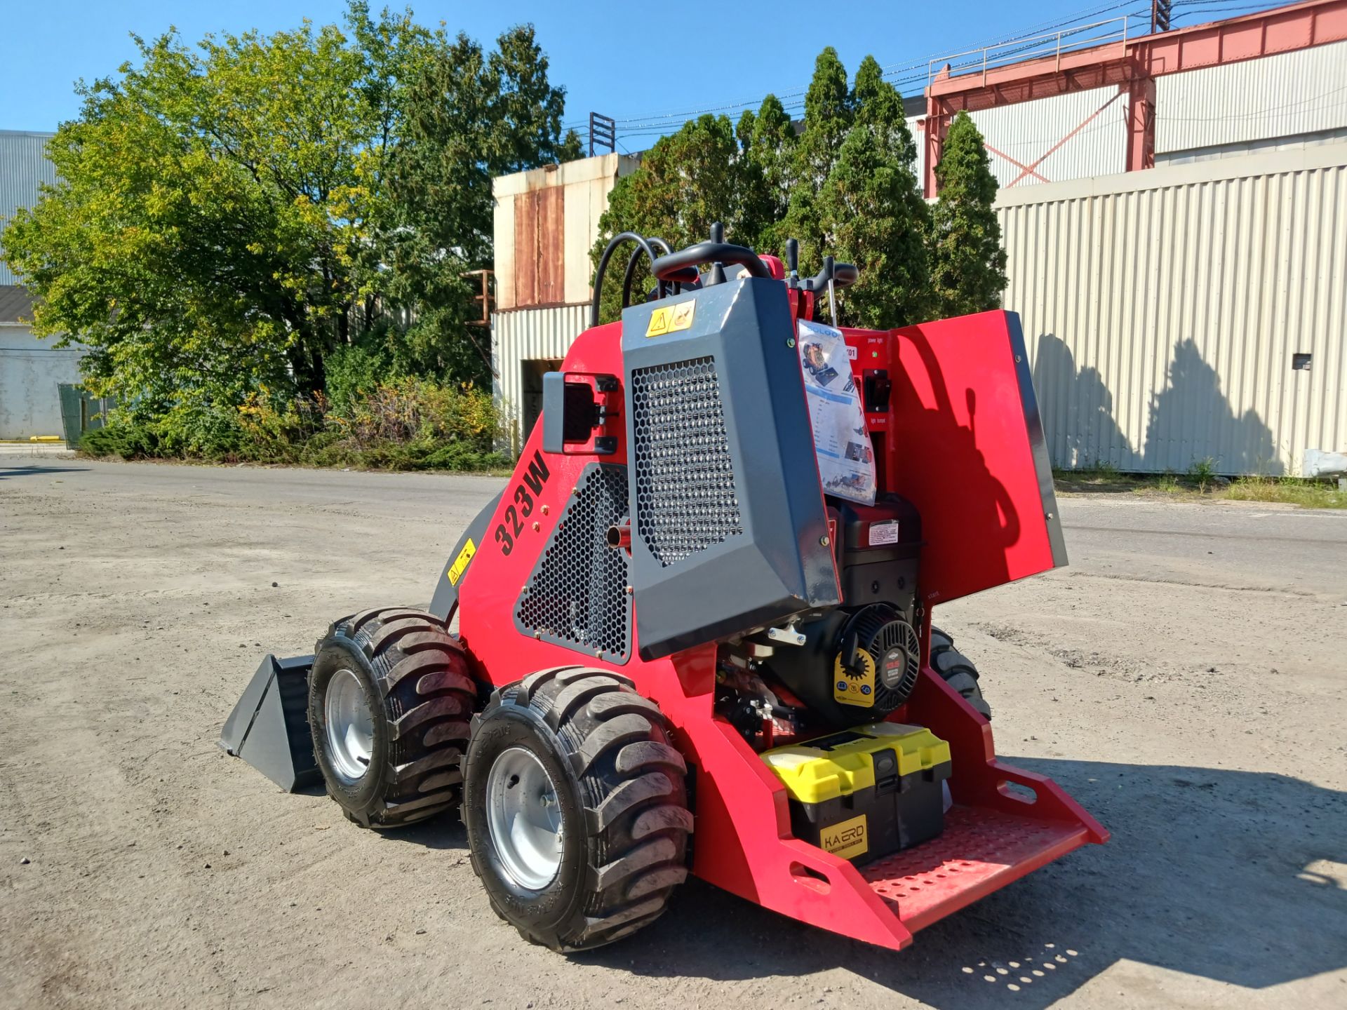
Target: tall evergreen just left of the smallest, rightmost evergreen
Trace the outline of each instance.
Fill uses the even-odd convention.
[[[832,237],[824,252],[859,268],[855,285],[839,298],[839,318],[854,326],[907,326],[925,316],[928,303],[928,214],[902,97],[873,57],[857,71],[853,105],[855,125],[818,201]]]

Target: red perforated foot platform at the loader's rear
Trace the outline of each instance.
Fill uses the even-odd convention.
[[[1079,823],[952,807],[939,838],[858,869],[916,932],[1087,842]]]

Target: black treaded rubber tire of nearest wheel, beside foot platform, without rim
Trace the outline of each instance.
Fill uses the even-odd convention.
[[[531,750],[556,786],[562,861],[541,890],[504,869],[486,820],[492,762]],[[649,925],[687,877],[687,765],[659,707],[625,677],[560,667],[497,691],[473,719],[463,823],[492,908],[531,943],[586,951]]]

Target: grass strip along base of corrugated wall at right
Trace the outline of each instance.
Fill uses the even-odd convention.
[[[1188,473],[1125,474],[1109,463],[1092,463],[1079,470],[1053,470],[1059,494],[1130,493],[1181,501],[1262,501],[1297,505],[1305,509],[1347,509],[1347,493],[1336,481],[1309,481],[1300,477],[1220,477],[1215,461],[1196,461]]]

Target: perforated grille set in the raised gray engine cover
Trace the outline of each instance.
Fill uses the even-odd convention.
[[[632,372],[636,520],[668,567],[744,532],[715,360]]]

